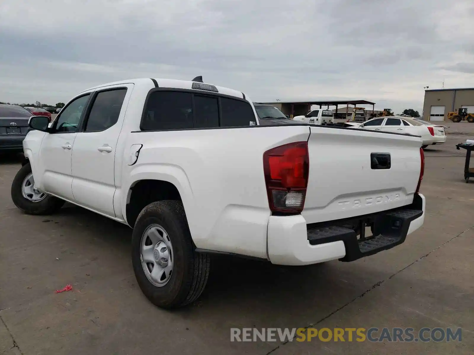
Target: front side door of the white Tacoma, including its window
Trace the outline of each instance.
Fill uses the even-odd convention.
[[[35,185],[48,193],[74,200],[71,156],[77,129],[89,100],[89,94],[75,98],[56,117],[41,142]]]

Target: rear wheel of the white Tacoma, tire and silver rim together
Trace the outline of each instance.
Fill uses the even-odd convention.
[[[194,250],[181,202],[153,202],[138,215],[132,264],[140,289],[159,307],[182,307],[201,295],[210,257]]]

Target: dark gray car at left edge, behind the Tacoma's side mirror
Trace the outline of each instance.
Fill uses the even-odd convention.
[[[0,105],[0,151],[23,151],[23,139],[28,133],[31,116],[24,107]]]

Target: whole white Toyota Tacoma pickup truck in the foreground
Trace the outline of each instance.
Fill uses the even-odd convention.
[[[278,122],[199,79],[97,86],[52,124],[30,118],[11,196],[25,213],[68,201],[133,228],[138,284],[164,308],[199,297],[212,253],[352,261],[423,224],[419,137]]]

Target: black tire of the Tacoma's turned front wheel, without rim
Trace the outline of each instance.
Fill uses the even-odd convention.
[[[59,210],[64,200],[55,196],[46,195],[44,199],[38,202],[28,200],[22,194],[22,185],[28,175],[31,174],[31,165],[28,163],[18,170],[17,175],[11,184],[11,199],[15,206],[27,214],[52,214]]]

